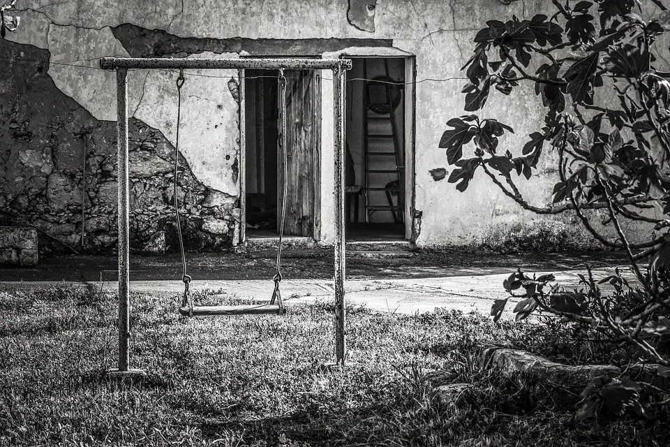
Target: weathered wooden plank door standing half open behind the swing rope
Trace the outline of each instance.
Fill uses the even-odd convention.
[[[313,236],[320,198],[321,88],[318,72],[285,71],[287,201],[284,234]],[[279,111],[280,119],[282,110]],[[280,121],[281,123],[281,121]],[[281,126],[281,124],[280,124]],[[281,129],[281,127],[280,127]],[[277,154],[278,215],[281,221],[283,154]]]

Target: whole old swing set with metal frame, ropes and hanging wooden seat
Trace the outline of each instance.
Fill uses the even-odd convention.
[[[248,314],[282,314],[283,301],[279,285],[281,274],[281,249],[286,214],[287,196],[287,138],[286,138],[286,78],[285,70],[331,70],[333,73],[333,121],[334,121],[334,202],[336,239],[334,243],[334,281],[335,281],[335,361],[343,365],[346,355],[345,344],[345,82],[346,71],[352,66],[348,59],[165,59],[165,58],[113,58],[100,60],[101,68],[117,73],[117,161],[119,185],[119,359],[116,368],[110,370],[114,376],[142,376],[144,371],[130,367],[130,246],[129,246],[129,198],[128,198],[128,79],[129,69],[179,70],[177,78],[177,138],[174,156],[174,212],[177,223],[177,235],[181,250],[184,282],[184,296],[179,307],[183,316],[217,316]],[[198,306],[193,304],[189,286],[191,276],[187,271],[184,240],[181,234],[179,204],[177,201],[177,174],[179,170],[179,127],[181,125],[181,88],[186,82],[185,69],[237,69],[239,79],[244,80],[244,70],[262,69],[279,71],[279,109],[281,110],[281,129],[279,147],[283,156],[283,195],[281,221],[276,258],[274,291],[269,304],[237,306]],[[240,88],[242,89],[242,87]]]

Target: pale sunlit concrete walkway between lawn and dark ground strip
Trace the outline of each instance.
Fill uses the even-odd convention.
[[[593,270],[596,279],[602,279],[613,273],[614,268]],[[510,270],[512,272],[514,270]],[[627,277],[630,271],[620,268]],[[563,286],[578,286],[577,274],[584,270],[566,270],[563,272],[537,272],[537,274],[553,273],[556,280]],[[527,272],[528,274],[528,272]],[[505,274],[483,274],[468,276],[451,276],[438,278],[411,279],[350,279],[346,281],[346,301],[352,305],[360,305],[380,312],[397,312],[415,314],[417,312],[433,312],[435,308],[459,309],[463,312],[482,312],[489,314],[493,300],[507,298],[509,295],[502,288],[502,281],[509,276]],[[1,281],[0,290],[11,288],[45,287],[55,284],[71,284],[103,288],[105,291],[117,290],[117,283],[111,282],[56,282],[33,281],[15,282]],[[209,291],[214,295],[248,298],[249,300],[268,300],[272,293],[273,283],[269,280],[204,280],[193,281],[191,290]],[[131,291],[142,293],[174,294],[183,292],[181,281],[147,280],[131,281]],[[293,303],[313,303],[329,301],[334,297],[333,281],[325,279],[285,279],[281,283],[282,296],[287,305]],[[510,303],[518,299],[512,298]],[[507,306],[511,312],[513,305]]]

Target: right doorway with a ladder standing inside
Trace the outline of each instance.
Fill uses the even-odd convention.
[[[404,240],[407,104],[403,57],[352,57],[347,73],[348,240]]]

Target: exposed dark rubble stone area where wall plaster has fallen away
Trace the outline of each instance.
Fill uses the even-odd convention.
[[[0,69],[0,210],[77,250],[83,232],[87,251],[112,251],[117,243],[116,123],[98,121],[54,85],[47,75],[47,50],[0,39],[0,57],[8,61]],[[176,249],[174,147],[140,120],[131,119],[128,131],[131,248]],[[179,164],[177,198],[188,247],[229,247],[239,226],[237,197],[198,182],[181,156]],[[40,249],[63,251],[64,245],[40,237]]]

